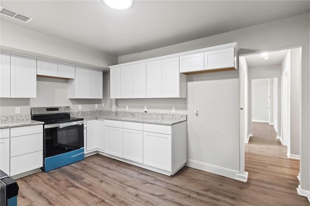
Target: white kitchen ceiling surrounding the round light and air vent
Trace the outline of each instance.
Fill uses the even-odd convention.
[[[34,18],[1,20],[115,55],[142,52],[310,12],[310,1],[136,0],[113,11],[100,0],[1,0]]]

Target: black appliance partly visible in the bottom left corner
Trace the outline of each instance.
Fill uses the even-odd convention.
[[[0,170],[0,206],[17,206],[18,189],[16,181]]]

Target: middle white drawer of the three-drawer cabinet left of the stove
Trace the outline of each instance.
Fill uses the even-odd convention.
[[[30,134],[11,138],[11,157],[43,149],[43,134]]]

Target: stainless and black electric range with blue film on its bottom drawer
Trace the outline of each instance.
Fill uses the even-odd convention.
[[[84,121],[69,106],[32,107],[31,119],[44,122],[43,171],[84,160]]]

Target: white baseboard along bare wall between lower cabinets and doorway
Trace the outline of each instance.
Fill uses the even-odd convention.
[[[232,170],[232,169],[228,169],[225,167],[220,167],[220,166],[216,166],[213,164],[208,164],[205,162],[199,162],[199,161],[190,160],[190,159],[187,159],[186,166],[199,169],[202,171],[214,173],[220,176],[229,177],[232,179],[236,179],[236,174],[239,174],[239,171],[237,170]]]

